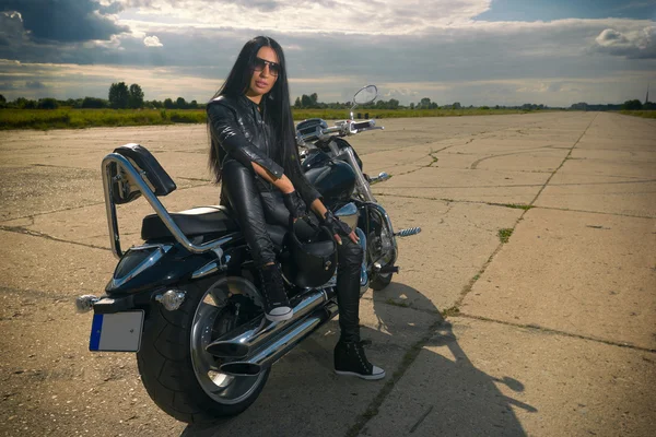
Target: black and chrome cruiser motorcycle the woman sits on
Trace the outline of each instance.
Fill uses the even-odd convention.
[[[356,122],[353,108],[375,101],[374,85],[353,98],[351,118],[328,127],[321,119],[296,126],[302,166],[327,208],[349,224],[364,250],[361,295],[383,290],[398,272],[395,233],[371,185],[372,178],[345,140],[383,129],[375,120]],[[90,351],[137,354],[141,380],[155,404],[187,423],[212,422],[244,412],[259,395],[271,366],[338,314],[336,276],[319,287],[285,277],[293,318],[263,317],[259,275],[231,211],[202,206],[169,213],[159,197],[175,182],[144,147],[127,144],[105,156],[103,187],[112,250],[118,258],[101,297],[80,296],[79,312],[94,312]],[[117,205],[143,197],[155,211],[142,222],[144,244],[121,249]],[[280,260],[289,228],[268,225]],[[289,265],[288,265],[289,268]]]

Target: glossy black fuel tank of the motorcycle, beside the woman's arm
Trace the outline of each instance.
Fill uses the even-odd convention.
[[[349,164],[312,150],[303,161],[303,172],[325,202],[348,202],[355,188],[355,173]]]

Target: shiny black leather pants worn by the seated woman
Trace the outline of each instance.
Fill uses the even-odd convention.
[[[267,223],[286,226],[289,212],[284,208],[282,193],[273,188],[268,191],[267,182],[250,168],[234,160],[223,163],[222,204],[230,202],[239,223],[256,265],[276,261],[276,247],[267,232]],[[363,251],[350,238],[337,245],[337,304],[341,339],[360,341],[360,265]]]

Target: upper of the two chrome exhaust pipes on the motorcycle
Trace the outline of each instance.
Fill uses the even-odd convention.
[[[295,321],[311,314],[319,305],[323,305],[332,297],[331,295],[332,290],[330,290],[330,296],[328,295],[328,291],[324,288],[312,290],[293,299],[296,303],[294,315],[291,319],[269,321],[263,316],[260,316],[216,339],[206,347],[206,351],[221,358],[234,359],[249,356],[253,354],[253,351],[257,350],[268,339],[271,339],[281,332],[283,328],[290,327]]]

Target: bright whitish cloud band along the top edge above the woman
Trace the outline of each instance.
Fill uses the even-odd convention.
[[[470,21],[491,0],[119,0],[144,22],[185,23],[258,32],[411,34]],[[160,20],[157,20],[160,17]]]

